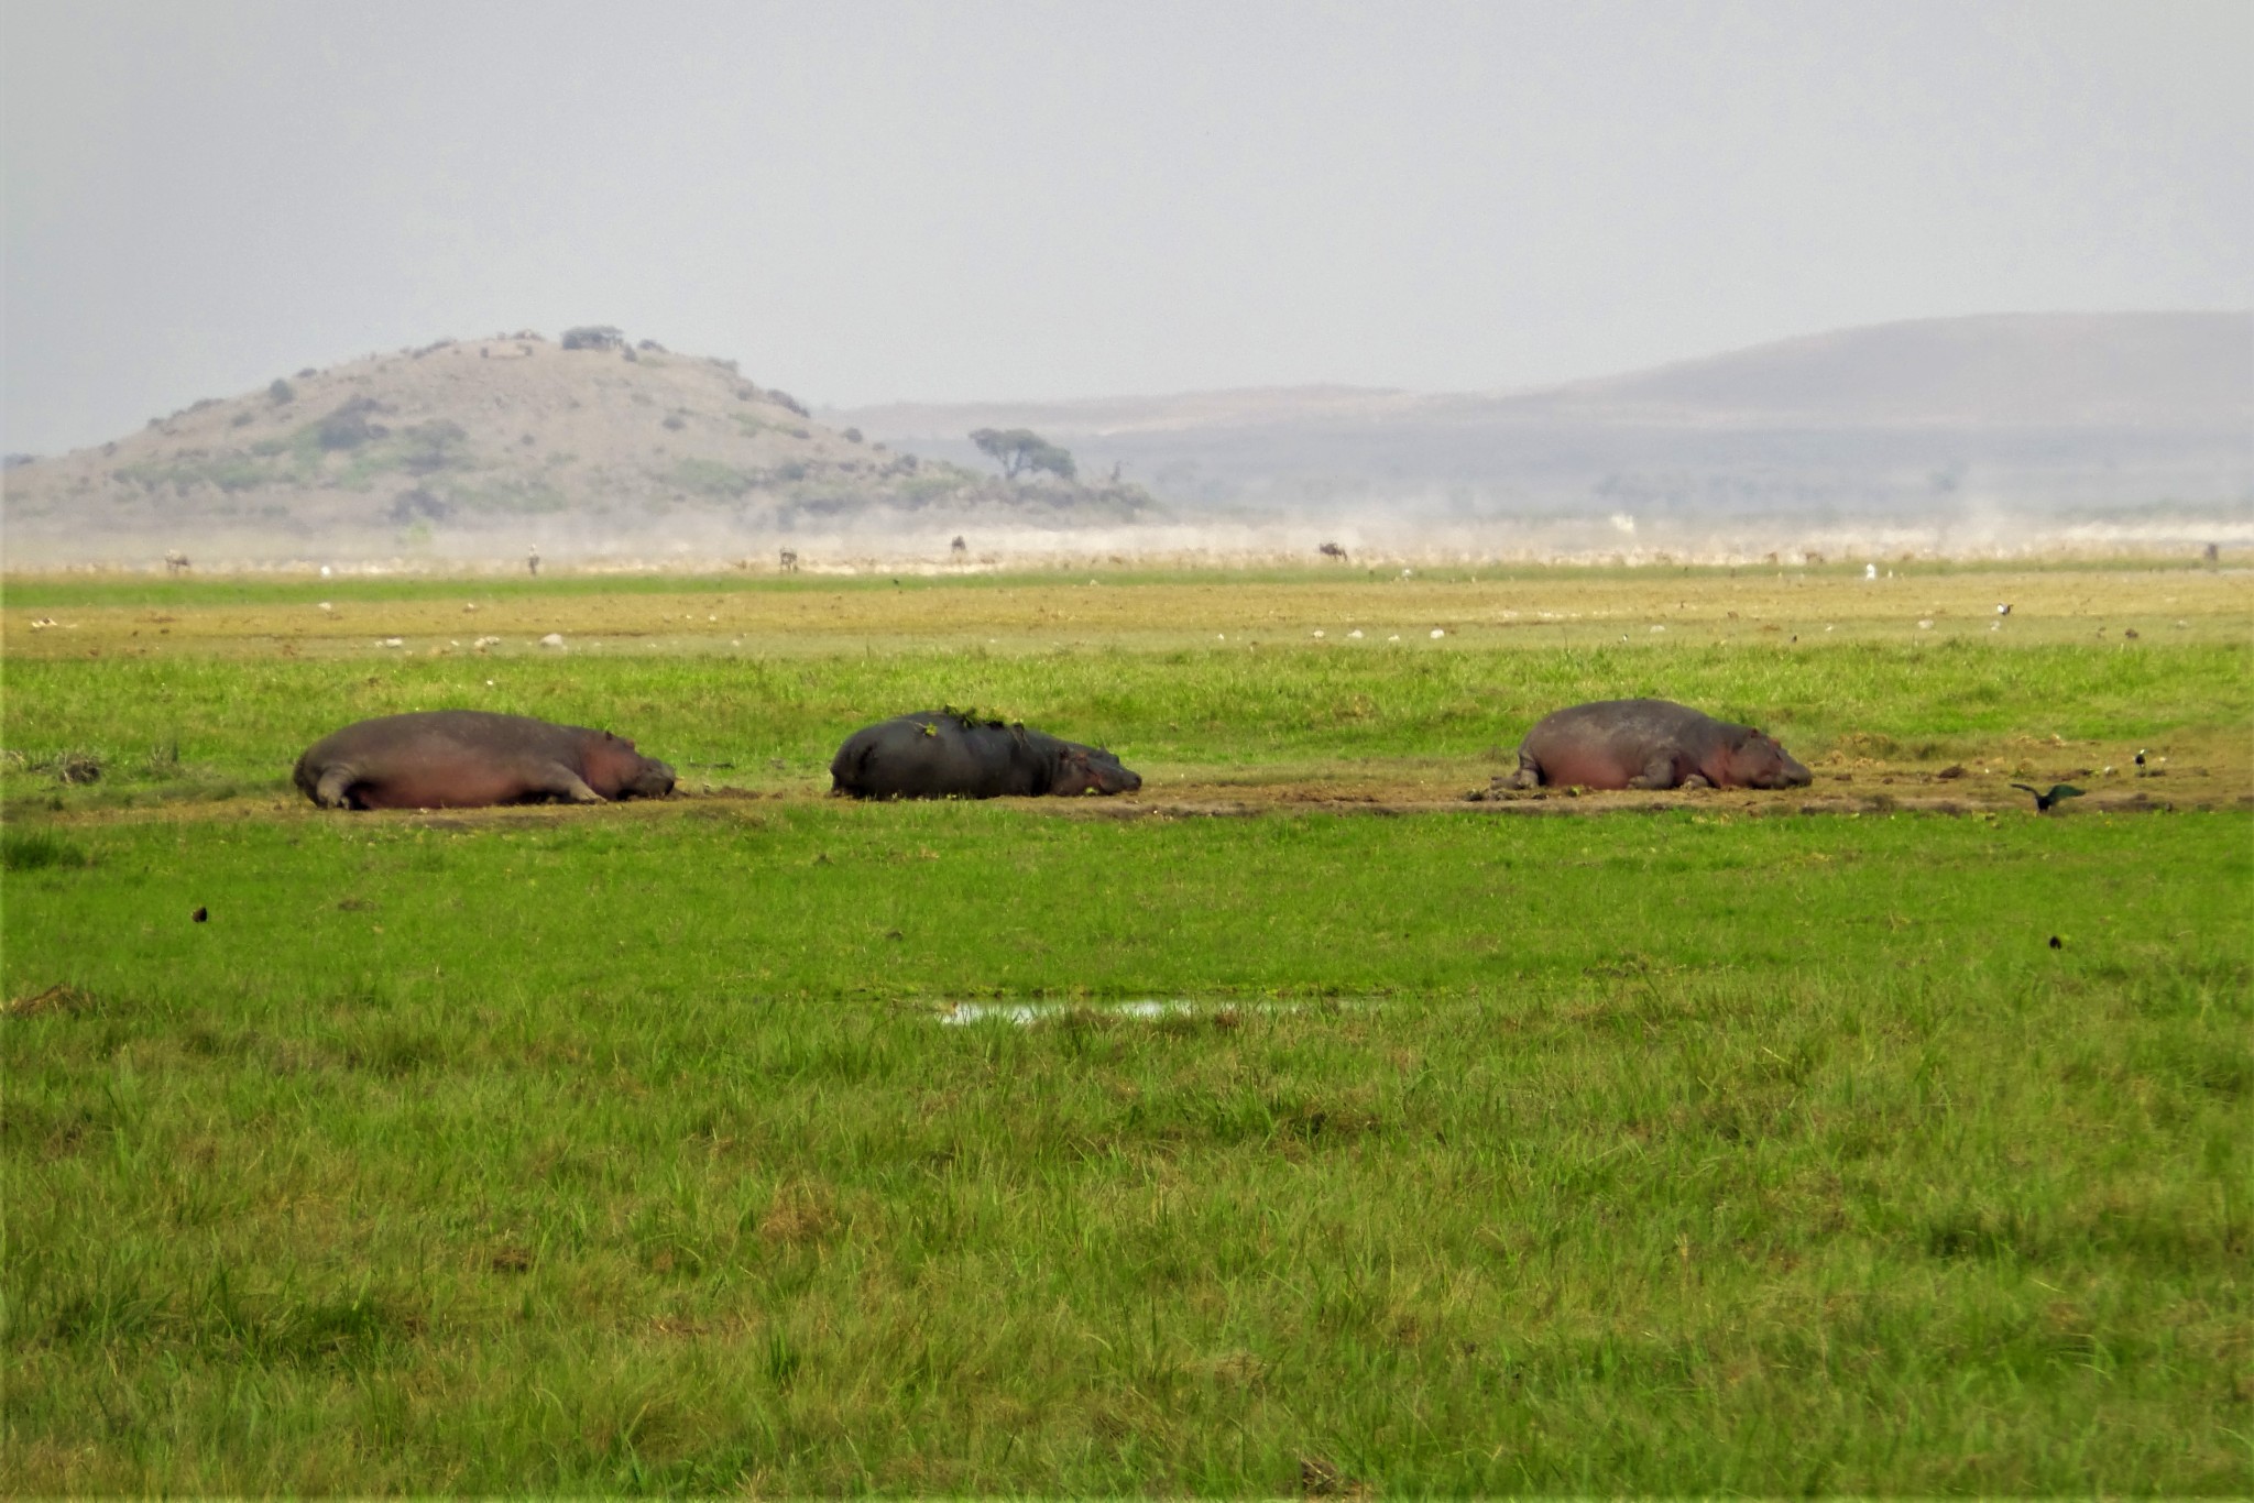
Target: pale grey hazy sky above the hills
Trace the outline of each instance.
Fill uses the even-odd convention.
[[[0,446],[582,322],[868,403],[2247,306],[2249,77],[2245,0],[0,0]]]

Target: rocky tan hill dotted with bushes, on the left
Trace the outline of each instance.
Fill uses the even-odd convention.
[[[14,457],[14,568],[196,559],[775,557],[793,539],[1075,527],[1122,484],[926,462],[814,421],[735,361],[613,329],[440,340]]]

